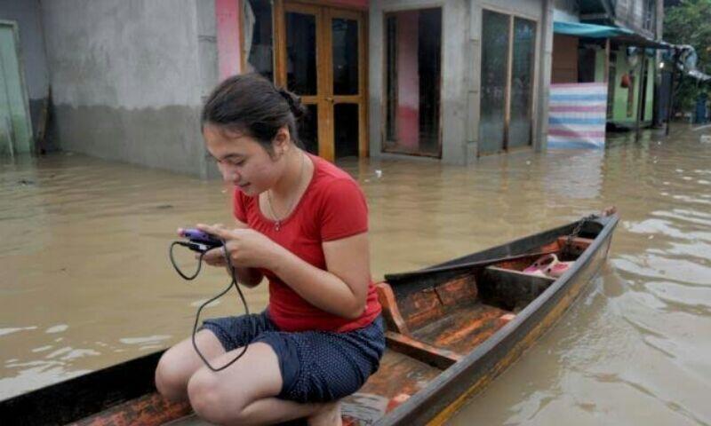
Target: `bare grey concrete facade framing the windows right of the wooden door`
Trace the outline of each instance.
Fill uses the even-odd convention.
[[[442,7],[442,162],[467,164],[477,153],[480,110],[482,9],[514,14],[538,22],[535,83],[533,88],[534,147],[545,148],[547,131],[547,84],[550,82],[553,6],[549,0],[383,0],[371,2],[369,120],[370,148],[374,157],[398,157],[382,153],[384,137],[384,48],[386,12]],[[547,69],[546,69],[547,67]],[[538,113],[540,111],[540,114]],[[407,158],[412,158],[407,156]]]

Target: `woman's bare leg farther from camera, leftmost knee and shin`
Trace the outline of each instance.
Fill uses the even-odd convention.
[[[197,347],[206,359],[216,359],[225,353],[218,338],[209,330],[196,334]],[[188,380],[204,363],[197,356],[191,338],[176,344],[158,361],[156,367],[156,388],[165,398],[172,401],[188,399]]]

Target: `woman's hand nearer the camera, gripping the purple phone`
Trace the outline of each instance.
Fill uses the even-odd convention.
[[[276,258],[283,252],[284,248],[276,242],[271,241],[262,233],[253,229],[227,229],[224,226],[218,225],[203,225],[198,224],[197,229],[225,241],[225,248],[230,257],[230,262],[235,267],[249,268],[266,268],[273,270],[273,264]],[[214,253],[213,253],[214,252]],[[213,248],[205,253],[203,259],[208,263],[208,255],[210,261],[219,262],[220,257],[222,264],[225,264],[224,252],[222,248]]]

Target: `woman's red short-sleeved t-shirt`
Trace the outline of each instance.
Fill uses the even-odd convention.
[[[353,177],[322,158],[313,155],[308,158],[314,162],[314,175],[278,231],[274,221],[262,215],[259,197],[244,195],[237,188],[235,217],[309,264],[326,270],[322,243],[368,231],[368,206]],[[380,313],[372,281],[363,315],[345,319],[309,304],[273,272],[266,269],[262,272],[269,280],[269,318],[284,331],[345,332],[369,325]]]

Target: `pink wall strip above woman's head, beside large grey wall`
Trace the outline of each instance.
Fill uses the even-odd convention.
[[[240,72],[240,0],[215,0],[220,81]]]

